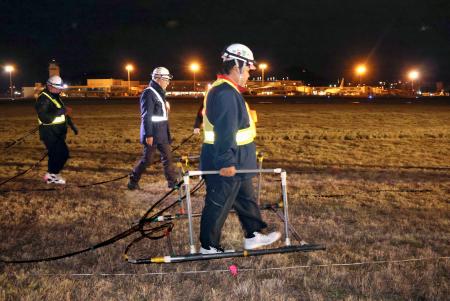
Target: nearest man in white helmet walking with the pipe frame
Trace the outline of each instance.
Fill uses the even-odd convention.
[[[200,252],[223,252],[220,236],[230,209],[235,209],[244,229],[244,248],[255,249],[277,241],[281,234],[263,234],[267,224],[255,201],[253,174],[236,174],[239,169],[256,169],[255,120],[241,92],[254,70],[252,51],[232,44],[222,53],[222,70],[205,96],[204,140],[201,170],[220,170],[205,176],[206,197],[200,223]]]

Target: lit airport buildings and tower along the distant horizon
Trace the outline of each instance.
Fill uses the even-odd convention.
[[[59,75],[60,69],[55,61],[49,64],[49,76]],[[167,87],[168,96],[202,96],[208,90],[211,81],[193,81],[193,80],[173,80]],[[68,86],[62,93],[66,97],[78,98],[111,98],[111,97],[136,97],[148,86],[148,81],[127,81],[122,79],[104,78],[104,79],[87,79],[86,85]],[[45,84],[36,83],[32,87],[23,87],[24,98],[37,98]],[[414,91],[408,86],[408,83],[395,83],[386,85],[380,82],[379,86],[365,85],[344,85],[344,79],[340,85],[327,87],[312,87],[305,85],[302,81],[295,80],[270,80],[261,81],[251,80],[247,83],[248,91],[246,93],[254,96],[355,96],[355,97],[371,97],[371,96],[414,96],[421,95],[421,91]],[[440,88],[440,89],[439,89]],[[439,96],[447,95],[444,93],[443,84],[436,86],[435,93],[426,92],[423,96]]]

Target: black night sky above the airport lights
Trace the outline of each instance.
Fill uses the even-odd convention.
[[[268,76],[351,81],[367,62],[367,82],[403,79],[410,67],[424,82],[450,82],[450,0],[0,0],[0,18],[0,64],[16,66],[17,86],[45,81],[51,59],[72,84],[126,79],[128,62],[132,79],[159,65],[191,79],[192,60],[211,79],[234,42],[267,62]]]

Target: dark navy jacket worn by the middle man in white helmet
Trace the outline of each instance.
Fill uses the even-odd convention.
[[[150,86],[154,88],[166,103],[166,92],[155,81],[150,81]],[[147,88],[142,92],[141,98],[141,143],[146,144],[145,138],[153,137],[154,144],[170,144],[169,122],[159,121],[152,122],[152,116],[162,116],[163,109],[155,92]]]

